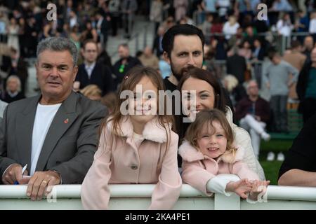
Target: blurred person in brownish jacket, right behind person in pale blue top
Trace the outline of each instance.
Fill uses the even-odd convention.
[[[300,41],[292,41],[291,43],[291,50],[284,52],[283,59],[286,62],[289,62],[291,66],[294,66],[298,71],[301,71],[303,68],[303,65],[306,60],[306,56],[301,53],[302,46]],[[290,78],[292,78],[293,75],[290,75]],[[289,99],[296,100],[298,99],[298,96],[296,94],[296,83],[294,83],[289,88]]]

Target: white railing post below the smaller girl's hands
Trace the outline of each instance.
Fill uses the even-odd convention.
[[[214,194],[214,210],[240,210],[240,197],[232,194]]]

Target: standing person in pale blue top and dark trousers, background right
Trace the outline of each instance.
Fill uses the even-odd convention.
[[[272,62],[263,74],[263,83],[270,89],[270,107],[273,111],[273,130],[275,132],[289,132],[287,128],[287,99],[289,87],[296,83],[298,70],[288,62],[282,60],[276,51],[268,54]],[[289,78],[289,74],[293,78]]]

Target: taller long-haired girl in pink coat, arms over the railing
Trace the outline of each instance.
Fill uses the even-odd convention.
[[[98,151],[81,186],[84,209],[107,209],[111,183],[154,183],[149,209],[171,209],[182,181],[178,172],[178,135],[171,116],[157,115],[157,71],[134,67],[119,90],[119,104],[100,126]],[[165,111],[164,111],[165,112]]]

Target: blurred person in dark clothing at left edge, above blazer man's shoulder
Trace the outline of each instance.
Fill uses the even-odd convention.
[[[24,98],[25,95],[21,92],[20,78],[18,76],[9,76],[6,80],[6,92],[4,92],[2,100],[10,104]]]

